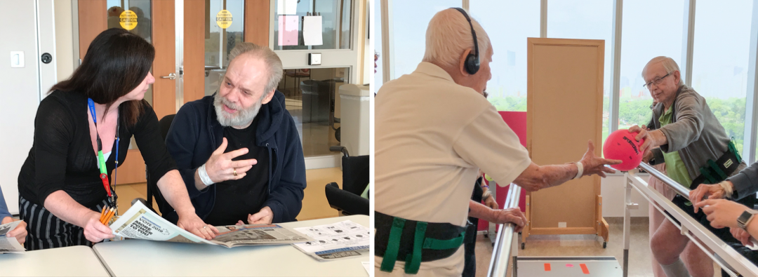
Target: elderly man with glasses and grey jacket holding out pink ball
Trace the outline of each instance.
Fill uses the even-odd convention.
[[[690,189],[722,182],[746,167],[706,99],[684,84],[672,58],[653,58],[642,70],[642,76],[645,87],[658,103],[653,107],[652,126],[629,129],[639,132],[637,140],[645,140],[641,145],[643,161],[651,165],[665,163],[666,176]],[[754,200],[753,195],[743,202]],[[710,226],[703,211],[693,207],[688,195],[676,195],[672,202],[722,240],[737,242],[729,229]],[[666,275],[713,275],[713,262],[681,234],[675,223],[663,220],[650,235],[653,257]]]

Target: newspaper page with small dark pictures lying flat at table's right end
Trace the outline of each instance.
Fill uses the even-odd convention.
[[[350,220],[295,230],[315,238],[315,241],[293,245],[319,261],[356,257],[371,248],[368,228]]]

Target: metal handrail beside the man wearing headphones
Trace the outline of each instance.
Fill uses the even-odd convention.
[[[506,196],[506,203],[503,206],[506,209],[518,207],[518,198],[521,196],[521,187],[513,183],[510,186],[508,195]],[[511,261],[515,223],[499,224],[499,226],[500,232],[497,232],[487,277],[505,276],[508,270],[508,263]]]

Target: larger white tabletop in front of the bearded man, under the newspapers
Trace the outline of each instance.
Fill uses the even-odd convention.
[[[368,216],[340,216],[282,226],[305,227],[352,220],[371,227]],[[208,244],[127,240],[96,244],[92,250],[114,276],[368,276],[359,257],[319,262],[290,244],[227,248]]]

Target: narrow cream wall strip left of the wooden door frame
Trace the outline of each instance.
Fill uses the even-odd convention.
[[[58,82],[74,73],[74,24],[70,0],[53,2],[55,6],[55,63],[58,65]],[[78,49],[77,49],[78,50]]]

